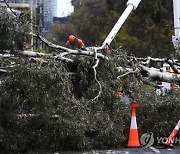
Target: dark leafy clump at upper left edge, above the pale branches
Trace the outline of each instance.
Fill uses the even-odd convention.
[[[22,24],[22,18],[13,17],[3,9],[0,10],[0,20],[0,52],[22,50],[28,41],[29,26]]]

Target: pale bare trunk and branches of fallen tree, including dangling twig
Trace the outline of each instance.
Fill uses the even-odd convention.
[[[97,67],[99,64],[99,61],[109,61],[113,63],[113,59],[118,58],[118,61],[116,61],[113,66],[114,70],[116,70],[118,73],[116,73],[116,78],[120,79],[128,75],[132,74],[138,74],[138,76],[142,77],[149,77],[152,80],[155,81],[163,81],[163,82],[174,82],[179,84],[180,81],[180,71],[178,69],[179,63],[177,60],[173,60],[171,58],[137,58],[132,56],[125,56],[122,49],[119,50],[112,50],[111,54],[105,54],[103,52],[103,49],[101,47],[87,47],[87,51],[76,49],[72,50],[60,45],[53,44],[43,38],[42,36],[39,36],[37,34],[32,34],[34,37],[40,39],[43,43],[45,43],[48,47],[52,48],[55,53],[38,53],[33,51],[22,51],[19,52],[18,56],[22,57],[25,56],[28,57],[27,60],[29,60],[32,63],[36,63],[38,68],[41,68],[42,66],[48,66],[50,63],[56,63],[57,61],[62,61],[65,63],[71,63],[73,65],[74,59],[76,56],[83,57],[89,57],[94,59],[94,62],[92,63],[92,68],[94,71],[94,79],[99,85],[99,93],[94,99],[98,99],[98,97],[102,94],[102,87],[100,82],[97,78]],[[58,52],[58,53],[57,53]],[[16,55],[10,55],[10,54],[2,54],[1,57],[5,58],[13,58],[16,57]],[[121,62],[122,61],[122,62]],[[163,65],[164,63],[169,64],[169,67],[172,68],[173,72],[166,72],[163,71],[161,68],[153,68],[151,67],[151,63],[161,63]],[[121,65],[121,63],[124,63]],[[19,65],[19,64],[17,64]],[[12,65],[8,67],[16,66],[15,63],[12,63]],[[3,69],[1,71],[2,75],[4,73],[7,73],[8,71],[6,69]]]

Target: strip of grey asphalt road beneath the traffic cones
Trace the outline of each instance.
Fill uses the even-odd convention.
[[[124,148],[124,149],[116,149],[116,150],[92,150],[88,152],[66,152],[63,154],[156,154],[156,153],[180,154],[180,147],[175,147],[173,149],[165,149],[163,147]]]

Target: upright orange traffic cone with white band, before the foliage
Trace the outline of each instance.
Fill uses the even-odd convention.
[[[128,147],[140,147],[139,143],[139,135],[138,135],[138,129],[137,129],[137,122],[136,122],[136,108],[137,103],[131,102],[131,127],[129,131],[129,141],[128,141]]]

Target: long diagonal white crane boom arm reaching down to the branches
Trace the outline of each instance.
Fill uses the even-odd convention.
[[[123,12],[123,14],[120,16],[120,18],[118,19],[118,21],[114,25],[113,29],[110,31],[109,35],[107,36],[107,38],[103,42],[102,48],[105,47],[106,45],[109,45],[112,42],[112,40],[114,39],[117,32],[119,31],[119,29],[124,24],[125,20],[129,16],[129,14],[132,12],[132,10],[135,10],[138,7],[140,2],[141,2],[141,0],[128,0],[127,8]]]

